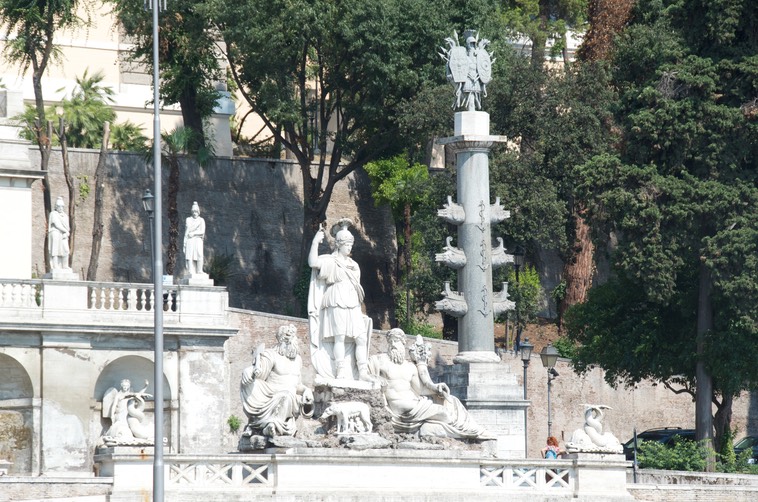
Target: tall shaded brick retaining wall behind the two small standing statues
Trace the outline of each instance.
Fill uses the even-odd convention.
[[[31,165],[39,164],[39,152],[29,149]],[[92,242],[94,173],[99,152],[69,151],[76,191],[76,242],[73,266],[86,277]],[[96,280],[151,282],[148,220],[142,209],[145,189],[152,189],[152,166],[138,154],[114,152],[108,157],[104,183],[102,250]],[[168,173],[164,166],[163,189]],[[61,154],[53,150],[50,167],[52,199],[63,196],[68,210],[68,188],[63,177]],[[33,185],[33,268],[45,273],[46,223],[42,183]],[[184,269],[182,238],[184,220],[193,201],[206,222],[206,264],[212,257],[232,257],[227,281],[232,306],[297,315],[293,295],[300,276],[300,242],[303,223],[302,178],[299,166],[286,160],[219,158],[206,167],[182,159],[178,195],[180,216],[177,271]],[[164,196],[164,212],[167,203]],[[356,223],[353,257],[361,266],[366,290],[366,309],[377,326],[386,324],[392,312],[392,281],[395,269],[395,230],[388,208],[376,207],[370,182],[360,170],[339,182],[327,211],[327,224],[347,216]],[[163,221],[164,249],[168,221]],[[321,252],[327,252],[322,245]],[[165,267],[165,258],[164,258]],[[206,265],[207,268],[207,265]]]

